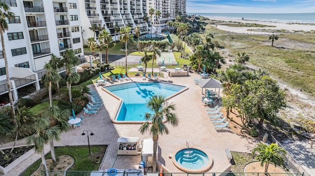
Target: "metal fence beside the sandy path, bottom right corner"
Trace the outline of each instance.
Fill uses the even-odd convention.
[[[278,146],[284,148],[279,141],[272,135],[268,135],[268,140],[271,143],[278,144]],[[285,149],[285,148],[284,148]],[[304,176],[311,176],[311,174],[307,173],[306,170],[288,153],[284,156],[284,164],[293,172],[293,173],[304,173]]]

